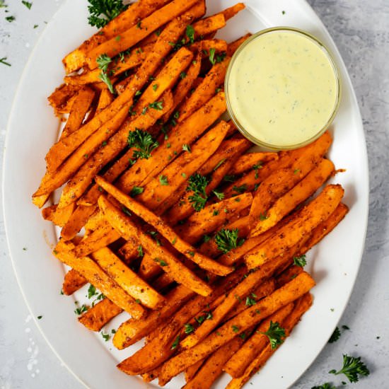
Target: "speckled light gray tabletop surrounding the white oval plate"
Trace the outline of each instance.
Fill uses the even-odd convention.
[[[45,21],[62,0],[8,0],[0,8],[0,149],[18,80]],[[274,0],[275,1],[275,0]],[[341,378],[327,373],[341,365],[342,353],[360,355],[371,375],[353,388],[389,388],[389,1],[309,0],[335,40],[354,84],[367,139],[370,168],[370,216],[364,259],[340,325],[348,325],[338,342],[327,344],[294,388],[311,388]],[[37,28],[33,26],[37,24]],[[1,159],[2,161],[2,159]],[[4,223],[0,223],[0,389],[81,388],[59,363],[35,325],[13,275]],[[379,337],[379,339],[378,339]],[[334,379],[332,379],[334,378]],[[113,386],[113,385],[112,385]],[[264,388],[271,389],[271,388]]]

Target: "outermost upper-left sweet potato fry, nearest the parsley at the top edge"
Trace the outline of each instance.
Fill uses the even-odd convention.
[[[110,23],[105,25],[98,33],[95,33],[91,38],[83,42],[76,50],[73,50],[62,59],[66,73],[76,71],[86,62],[86,52],[100,45],[122,31],[128,30],[135,25],[139,19],[146,18],[153,11],[165,5],[169,0],[140,0],[132,4],[126,11],[120,13],[119,16],[112,19]]]

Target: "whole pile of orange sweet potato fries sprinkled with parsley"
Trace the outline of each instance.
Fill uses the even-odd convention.
[[[226,371],[241,388],[310,307],[304,255],[347,214],[340,185],[310,199],[336,173],[329,132],[248,152],[221,119],[250,34],[214,35],[243,8],[203,18],[204,0],[139,0],[66,55],[49,98],[69,116],[33,202],[62,187],[42,214],[62,227],[64,294],[103,293],[79,317],[93,331],[129,313],[113,344],[146,344],[118,368],[160,385],[185,372],[185,388],[209,388]]]

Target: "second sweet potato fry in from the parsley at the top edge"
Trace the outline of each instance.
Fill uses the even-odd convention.
[[[103,42],[95,49],[91,50],[86,54],[86,62],[90,69],[95,69],[98,64],[96,59],[101,54],[107,54],[109,57],[115,56],[116,54],[123,52],[137,44],[147,35],[153,33],[155,30],[160,28],[162,25],[168,23],[173,18],[180,16],[181,13],[187,11],[188,8],[194,6],[197,0],[173,0],[166,4],[157,11],[151,13],[150,16],[144,18],[140,24],[134,25],[132,28],[120,33],[120,39],[117,40],[115,37]]]

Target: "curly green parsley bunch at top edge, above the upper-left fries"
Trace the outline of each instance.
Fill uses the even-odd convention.
[[[23,4],[27,1],[23,1]],[[116,18],[122,11],[127,9],[122,0],[88,0],[90,16],[88,23],[97,28],[104,27],[113,18]]]

